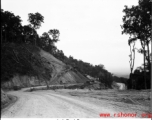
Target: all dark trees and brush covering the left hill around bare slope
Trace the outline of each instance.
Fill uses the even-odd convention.
[[[104,65],[91,65],[90,63],[77,60],[72,56],[67,57],[62,50],[57,49],[55,43],[59,41],[60,32],[57,29],[50,29],[41,36],[37,29],[44,22],[40,13],[28,14],[28,25],[22,25],[21,18],[9,11],[1,9],[1,82],[10,81],[15,74],[37,76],[47,84],[51,78],[51,68],[47,68],[43,58],[39,54],[43,49],[59,60],[79,71],[83,75],[90,75],[111,88],[115,76],[108,72]],[[122,78],[117,77],[121,82]],[[127,79],[123,78],[126,83]],[[15,88],[16,89],[16,88]]]

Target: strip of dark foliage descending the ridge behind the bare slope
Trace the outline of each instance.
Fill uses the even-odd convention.
[[[104,83],[105,86],[111,88],[113,76],[110,72],[105,70],[104,65],[100,64],[94,66],[82,60],[74,59],[72,56],[66,57],[62,50],[58,50],[54,56],[64,61],[67,65],[72,66],[75,71],[79,71],[85,76],[90,75],[97,78],[101,83]]]

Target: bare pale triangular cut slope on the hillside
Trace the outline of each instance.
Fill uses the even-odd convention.
[[[78,71],[75,71],[71,66],[66,65],[62,61],[56,59],[53,55],[40,50],[40,56],[47,61],[47,66],[53,69],[50,84],[65,84],[65,83],[84,83],[88,79]]]

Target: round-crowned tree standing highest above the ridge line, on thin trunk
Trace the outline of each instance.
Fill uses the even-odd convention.
[[[28,17],[29,17],[28,21],[31,23],[32,28],[35,29],[35,30],[39,29],[40,26],[41,26],[41,23],[44,22],[44,17],[38,12],[35,13],[35,14],[29,13]],[[36,45],[36,40],[37,39],[34,40],[35,41],[35,45]]]

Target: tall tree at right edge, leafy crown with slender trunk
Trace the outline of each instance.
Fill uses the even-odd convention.
[[[144,58],[144,72],[146,72],[146,62],[150,66],[149,44],[151,41],[151,3],[150,0],[139,0],[137,6],[128,8],[125,6],[123,12],[122,34],[129,34],[133,40],[139,40],[141,43],[143,58]],[[133,42],[133,41],[132,41]],[[147,61],[146,61],[147,60]],[[149,67],[150,71],[150,67]],[[145,88],[146,87],[146,73],[145,73]]]

